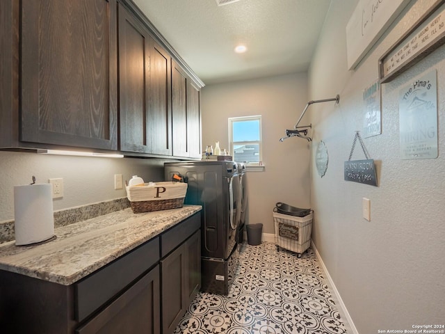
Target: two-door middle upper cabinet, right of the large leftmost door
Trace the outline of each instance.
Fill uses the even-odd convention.
[[[119,6],[120,150],[172,155],[171,57]]]

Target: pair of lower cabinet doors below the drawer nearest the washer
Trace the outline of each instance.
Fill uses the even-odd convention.
[[[201,287],[201,232],[161,260],[162,333],[173,333]]]

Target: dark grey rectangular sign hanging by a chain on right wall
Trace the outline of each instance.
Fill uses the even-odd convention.
[[[353,157],[355,143],[357,143],[357,138],[360,142],[360,145],[362,145],[362,150],[364,152],[366,160],[351,161],[351,158]],[[355,132],[353,148],[351,148],[350,150],[349,160],[345,161],[344,175],[345,175],[345,181],[352,181],[363,184],[369,184],[370,186],[377,186],[377,176],[375,175],[374,159],[369,159],[368,151],[364,147],[362,137],[360,136],[358,131]]]

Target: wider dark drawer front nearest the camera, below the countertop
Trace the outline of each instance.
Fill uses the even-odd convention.
[[[131,250],[74,284],[74,317],[82,321],[159,261],[159,238]]]

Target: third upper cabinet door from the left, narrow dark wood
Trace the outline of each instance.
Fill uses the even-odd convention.
[[[149,138],[153,154],[172,155],[171,57],[150,43]]]

